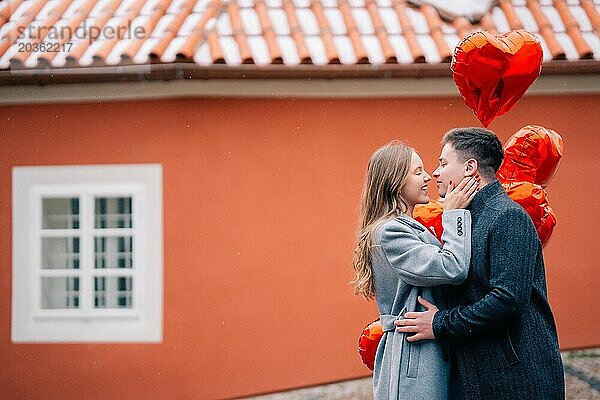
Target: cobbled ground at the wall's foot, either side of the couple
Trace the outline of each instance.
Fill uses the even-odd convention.
[[[562,353],[567,400],[600,400],[600,348]],[[247,400],[372,400],[371,378],[291,390]]]

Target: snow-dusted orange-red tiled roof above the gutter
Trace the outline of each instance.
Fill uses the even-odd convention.
[[[500,0],[473,24],[406,0],[8,0],[0,69],[436,64],[474,30],[519,28],[540,38],[546,61],[599,60],[599,10],[600,0]]]

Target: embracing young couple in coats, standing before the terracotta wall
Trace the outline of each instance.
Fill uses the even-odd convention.
[[[412,218],[429,201],[419,155],[392,142],[367,168],[353,266],[384,331],[374,398],[564,399],[542,246],[496,179],[502,144],[482,128],[452,129],[442,144],[442,243]]]

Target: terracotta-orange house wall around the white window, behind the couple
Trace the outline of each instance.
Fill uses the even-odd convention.
[[[600,345],[600,96],[526,98],[491,126],[537,123],[566,154],[545,250],[563,349]],[[186,99],[0,107],[0,397],[219,399],[369,375],[373,303],[350,259],[371,152],[393,138],[435,168],[441,134],[477,125],[458,98]],[[11,167],[161,163],[164,342],[10,341]]]

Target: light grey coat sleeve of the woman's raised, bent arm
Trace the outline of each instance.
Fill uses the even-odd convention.
[[[383,226],[380,242],[385,261],[408,284],[458,285],[466,279],[471,261],[471,214],[468,210],[445,211],[442,226],[441,249],[423,242],[403,223],[391,221]]]

